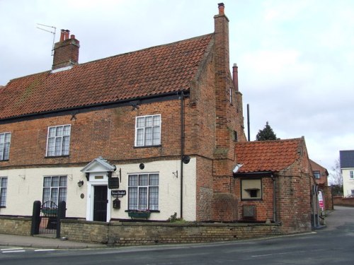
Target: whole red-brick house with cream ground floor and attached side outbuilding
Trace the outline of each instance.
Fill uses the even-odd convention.
[[[52,70],[0,88],[0,215],[30,216],[33,201],[64,200],[67,217],[86,220],[141,211],[149,220],[176,213],[235,221],[251,203],[253,221],[307,230],[312,178],[303,139],[271,143],[301,155],[292,153],[291,170],[252,167],[262,181],[246,185],[258,201],[244,200],[240,174],[249,172],[241,150],[263,143],[246,143],[224,4],[214,21],[208,35],[84,64],[79,40],[62,30]]]

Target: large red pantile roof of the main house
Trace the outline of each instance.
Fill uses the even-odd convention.
[[[188,90],[212,37],[13,79],[0,90],[0,119]]]

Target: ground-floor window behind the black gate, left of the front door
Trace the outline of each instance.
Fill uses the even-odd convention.
[[[54,185],[53,186],[53,178],[57,177],[58,178],[58,185]],[[46,182],[46,178],[50,178],[50,186],[46,185],[49,182]],[[64,181],[62,182],[62,179],[64,179]],[[62,199],[61,201],[67,201],[67,180],[68,177],[67,175],[49,175],[49,176],[43,176],[43,184],[42,184],[42,204],[45,204],[47,201],[52,201],[56,204],[56,206],[58,206],[59,204],[59,199]],[[65,184],[65,185],[62,185]],[[50,189],[49,192],[49,196],[45,196],[45,194],[47,194],[45,192],[45,189]],[[53,191],[57,190],[57,194],[54,195],[55,196],[55,201],[53,201],[52,197],[53,197]],[[64,196],[61,193],[61,190],[64,191]],[[64,199],[63,199],[64,197]],[[46,208],[52,208],[52,204],[50,205],[44,205]]]

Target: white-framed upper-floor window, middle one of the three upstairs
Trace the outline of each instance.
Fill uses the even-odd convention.
[[[66,126],[69,126],[69,135],[64,135],[64,128]],[[57,129],[59,127],[62,127],[62,135],[57,136]],[[50,129],[55,128],[55,136],[50,136]],[[63,143],[64,143],[64,137],[68,137],[69,140],[67,141],[67,149],[64,149],[63,151]],[[64,124],[64,125],[57,125],[57,126],[48,126],[47,130],[47,150],[46,150],[46,157],[52,158],[56,156],[68,156],[70,153],[70,140],[72,138],[72,124]],[[54,146],[50,146],[50,139],[54,139]],[[59,154],[57,153],[57,139],[60,140],[60,150]],[[50,150],[50,148],[53,148],[53,150]]]

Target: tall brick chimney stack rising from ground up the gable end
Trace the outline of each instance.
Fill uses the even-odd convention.
[[[212,164],[212,220],[237,220],[236,193],[232,170],[236,161],[235,142],[245,141],[241,112],[241,93],[238,91],[237,67],[232,73],[229,65],[229,19],[224,4],[218,4],[215,22],[215,148]],[[234,80],[233,78],[234,77]],[[232,100],[232,96],[236,99]]]

